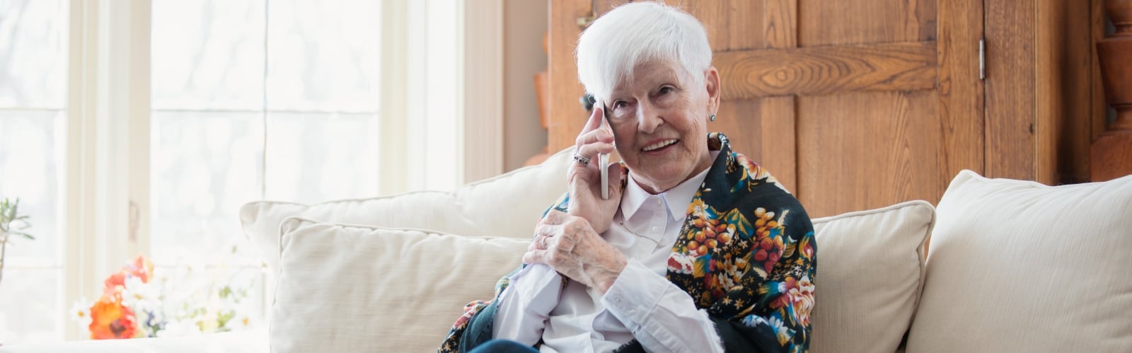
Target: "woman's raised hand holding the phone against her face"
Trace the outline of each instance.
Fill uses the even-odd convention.
[[[571,215],[589,221],[598,234],[609,230],[614,214],[621,203],[621,167],[616,163],[608,166],[609,199],[601,198],[601,162],[598,154],[609,154],[615,150],[614,132],[603,123],[604,120],[604,106],[599,101],[594,104],[593,114],[582,128],[582,134],[577,135],[574,145],[580,155],[590,158],[590,163],[583,165],[572,161],[566,178],[571,198],[567,210]]]

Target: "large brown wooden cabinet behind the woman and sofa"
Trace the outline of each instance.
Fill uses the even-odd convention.
[[[715,51],[723,104],[709,129],[813,216],[936,203],[963,169],[1088,179],[1104,119],[1097,0],[670,2],[704,23]],[[550,1],[550,150],[572,146],[588,117],[573,58],[580,23],[611,6]]]

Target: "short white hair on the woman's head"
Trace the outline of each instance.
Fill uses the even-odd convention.
[[[590,24],[574,52],[577,78],[594,98],[607,100],[618,83],[633,79],[633,68],[661,61],[678,63],[703,84],[711,67],[707,32],[698,19],[662,2],[618,6]]]

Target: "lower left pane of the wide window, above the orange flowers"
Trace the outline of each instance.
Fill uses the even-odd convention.
[[[252,253],[239,209],[260,198],[260,115],[154,111],[152,119],[154,262],[189,257],[212,264],[232,246]]]

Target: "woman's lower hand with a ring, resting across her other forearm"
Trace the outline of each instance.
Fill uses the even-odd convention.
[[[539,221],[535,233],[523,262],[546,264],[602,294],[627,264],[625,255],[606,242],[583,217],[551,209]]]

